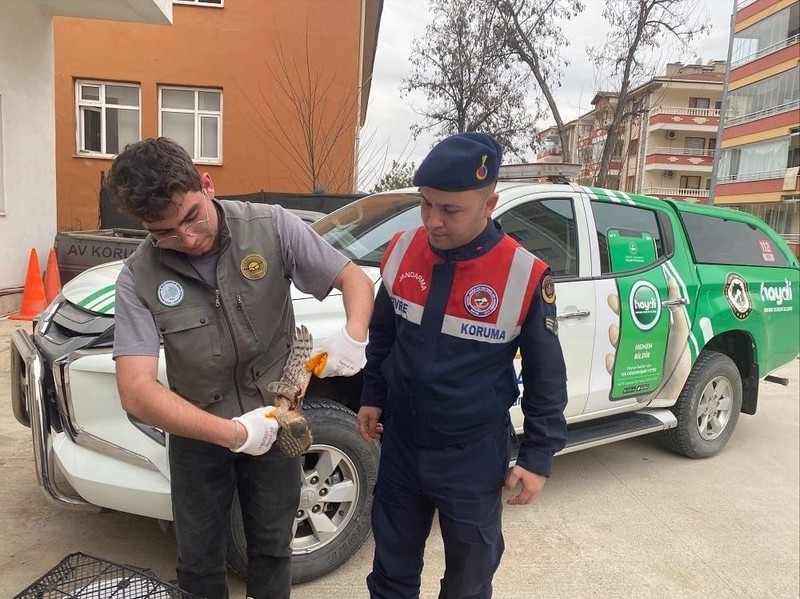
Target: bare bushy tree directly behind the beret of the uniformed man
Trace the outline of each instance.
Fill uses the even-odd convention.
[[[533,147],[539,110],[528,106],[528,74],[497,43],[496,11],[469,0],[433,0],[432,11],[412,43],[412,72],[401,88],[426,98],[415,108],[424,120],[412,127],[414,137],[486,131],[522,158]]]

